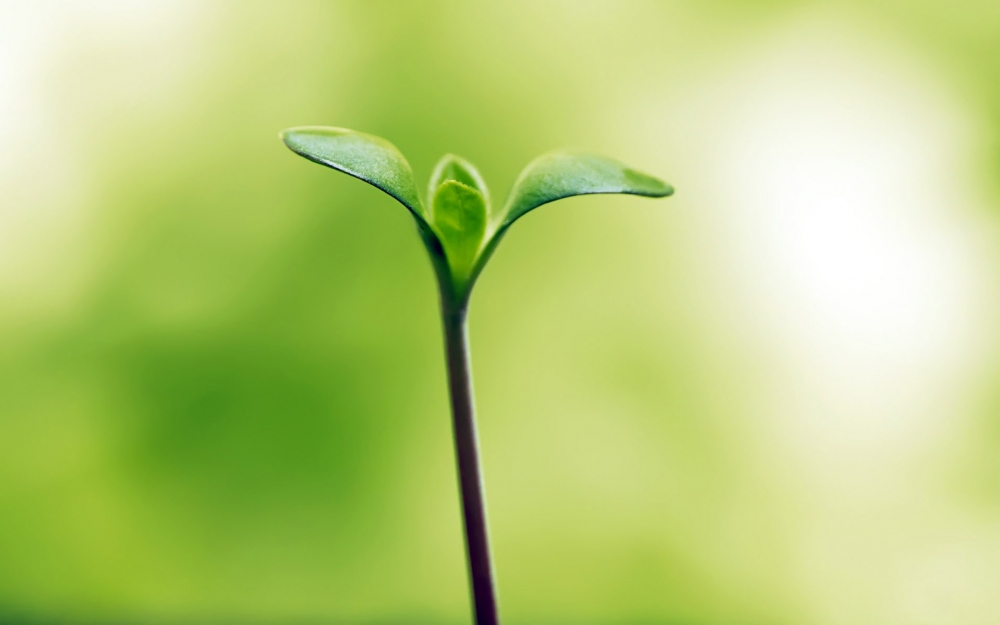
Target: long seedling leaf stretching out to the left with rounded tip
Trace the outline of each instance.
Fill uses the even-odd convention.
[[[399,200],[426,224],[413,170],[393,144],[381,137],[328,126],[299,126],[281,132],[293,152],[360,178]]]

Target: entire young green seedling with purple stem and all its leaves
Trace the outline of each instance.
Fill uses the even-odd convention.
[[[350,174],[385,191],[417,222],[437,274],[451,391],[455,452],[465,519],[465,545],[477,625],[498,625],[490,560],[486,502],[472,399],[472,370],[466,317],[469,296],[507,229],[542,204],[594,193],[666,197],[670,185],[602,156],[553,152],[521,172],[499,210],[482,176],[468,161],[448,154],[434,168],[426,204],[413,171],[385,139],[344,128],[289,128],[281,138],[295,153]]]

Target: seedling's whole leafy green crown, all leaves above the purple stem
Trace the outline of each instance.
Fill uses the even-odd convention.
[[[413,170],[385,139],[345,128],[289,128],[281,138],[292,151],[385,191],[410,210],[430,252],[442,294],[465,302],[501,237],[528,211],[555,200],[594,193],[665,197],[670,185],[601,156],[554,152],[532,161],[494,211],[489,189],[468,161],[446,155],[434,168],[421,202]]]

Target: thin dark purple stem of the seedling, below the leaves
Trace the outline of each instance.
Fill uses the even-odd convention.
[[[476,613],[476,625],[499,625],[496,587],[490,560],[486,528],[486,501],[479,467],[479,443],[472,399],[472,366],[469,361],[469,337],[466,329],[468,304],[452,306],[442,298],[445,352],[448,360],[448,383],[451,389],[451,414],[455,432],[458,480],[462,491],[465,519],[465,547],[469,556],[469,581]]]

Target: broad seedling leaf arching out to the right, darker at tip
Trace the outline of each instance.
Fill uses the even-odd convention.
[[[499,229],[542,204],[594,193],[628,193],[646,197],[666,197],[674,192],[667,183],[638,172],[611,158],[553,152],[524,168],[502,211]]]

